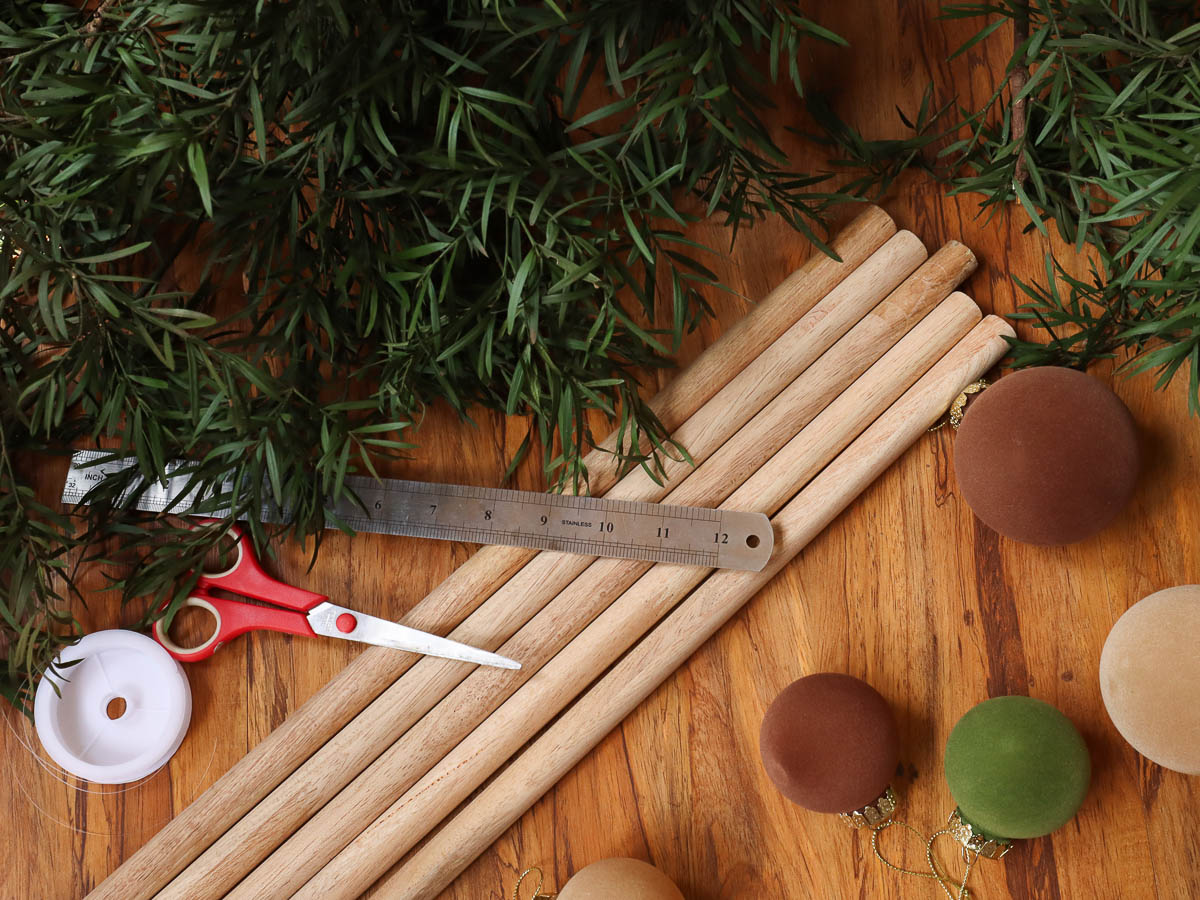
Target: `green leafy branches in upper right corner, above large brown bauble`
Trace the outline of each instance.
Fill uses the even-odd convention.
[[[1020,287],[1022,316],[1048,343],[1018,342],[1015,365],[1074,365],[1130,350],[1130,371],[1183,371],[1200,413],[1200,24],[1192,2],[1003,0],[953,5],[991,17],[970,44],[1013,24],[1009,78],[947,148],[955,191],[985,209],[1020,203],[1033,226],[1091,250],[1092,276],[1046,260],[1044,284]],[[1008,34],[1002,29],[1001,34]],[[995,38],[994,38],[995,40]],[[1014,136],[1012,100],[1024,100]],[[996,107],[1001,113],[995,114]],[[1019,115],[1020,113],[1018,113]],[[1018,161],[1027,172],[1021,176]]]

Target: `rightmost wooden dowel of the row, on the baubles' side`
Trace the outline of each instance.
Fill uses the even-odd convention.
[[[1004,355],[1004,337],[1012,334],[995,317],[977,325],[772,520],[775,551],[762,572],[727,570],[709,576],[433,838],[392,869],[377,886],[378,894],[428,900],[443,890],[920,438],[966,384]]]

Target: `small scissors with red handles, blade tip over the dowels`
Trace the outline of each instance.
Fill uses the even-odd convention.
[[[200,520],[200,524],[217,520]],[[232,566],[218,572],[200,575],[196,590],[184,601],[184,606],[208,610],[216,619],[216,628],[198,647],[180,647],[163,628],[162,619],[154,623],[154,638],[167,653],[180,662],[198,662],[208,659],[222,644],[247,631],[281,631],[288,635],[316,637],[341,637],[361,641],[397,650],[424,653],[430,656],[478,662],[499,668],[521,668],[521,664],[487,650],[480,650],[427,631],[418,631],[377,616],[367,616],[344,606],[329,602],[324,594],[276,581],[259,565],[250,541],[236,524],[229,524],[229,536],[236,544],[238,557]],[[230,600],[210,594],[210,588],[229,590],[275,606],[259,606],[242,600]],[[276,608],[283,607],[283,608]]]

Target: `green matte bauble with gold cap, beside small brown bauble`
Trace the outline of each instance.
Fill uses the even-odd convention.
[[[988,838],[1040,838],[1087,794],[1092,763],[1070,719],[1032,697],[995,697],[959,719],[946,781],[964,821]]]

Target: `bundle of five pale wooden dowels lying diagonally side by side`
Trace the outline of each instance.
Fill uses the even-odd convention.
[[[596,494],[767,512],[763,571],[485,547],[403,622],[518,672],[366,650],[91,896],[436,896],[1003,355],[962,245],[870,208],[833,246],[654,400],[694,466],[587,461]]]

